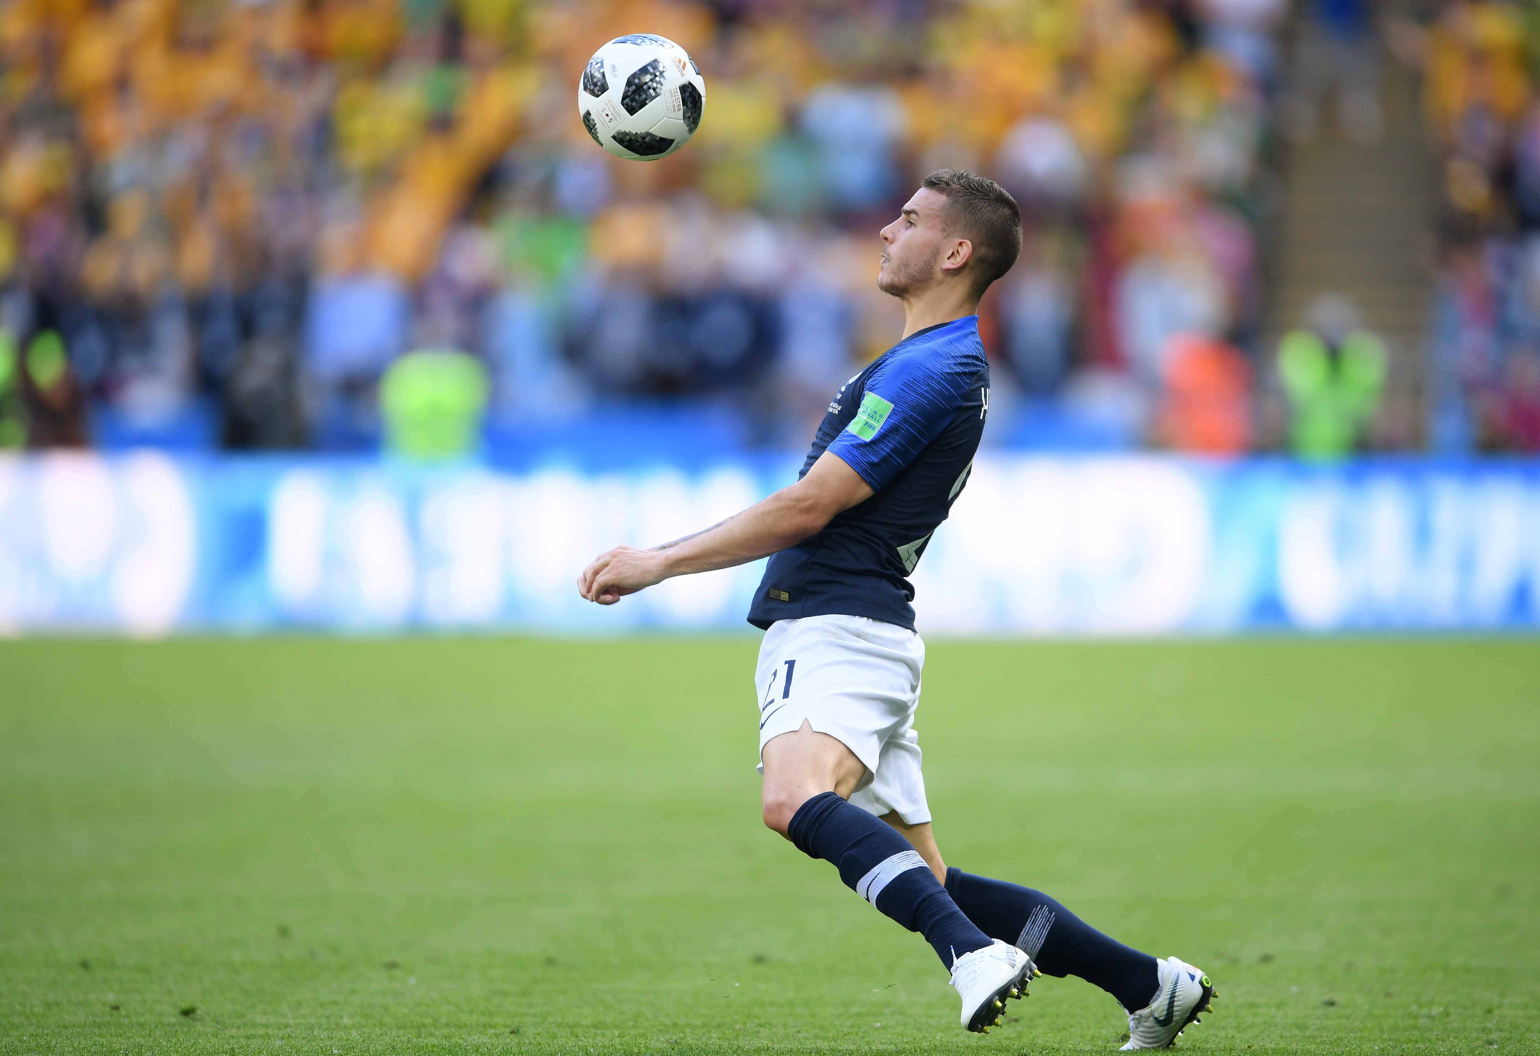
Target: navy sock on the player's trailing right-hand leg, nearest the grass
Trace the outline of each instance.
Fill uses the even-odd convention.
[[[1155,957],[1109,939],[1041,891],[962,869],[947,869],[947,891],[984,934],[1015,943],[1050,976],[1080,976],[1129,1011],[1160,990]]]

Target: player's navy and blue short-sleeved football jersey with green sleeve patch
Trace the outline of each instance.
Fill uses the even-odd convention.
[[[829,450],[873,495],[770,557],[748,623],[841,614],[913,631],[907,577],[967,483],[987,415],[978,316],[910,335],[841,385],[798,478]]]

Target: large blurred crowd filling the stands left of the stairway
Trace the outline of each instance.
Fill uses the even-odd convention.
[[[636,401],[805,442],[899,333],[878,228],[950,165],[1026,214],[981,311],[995,441],[1247,450],[1283,6],[8,0],[0,446],[362,450],[382,402],[496,430]],[[1472,231],[1460,385],[1540,375],[1509,355],[1540,311],[1531,25],[1458,6],[1426,46]],[[634,31],[705,71],[662,162],[576,114],[588,55]],[[1534,429],[1481,407],[1463,429]]]

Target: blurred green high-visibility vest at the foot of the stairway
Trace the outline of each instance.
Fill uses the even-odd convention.
[[[1300,458],[1346,458],[1384,392],[1384,344],[1368,330],[1349,333],[1332,356],[1311,330],[1291,330],[1278,345],[1278,376],[1289,398],[1289,446]]]

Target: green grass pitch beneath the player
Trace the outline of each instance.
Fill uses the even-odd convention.
[[[752,638],[0,644],[0,1051],[987,1038],[758,819]],[[947,860],[1206,968],[1198,1053],[1535,1051],[1540,641],[932,643]]]

